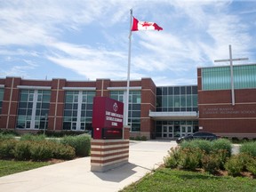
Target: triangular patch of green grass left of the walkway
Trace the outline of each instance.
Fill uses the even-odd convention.
[[[7,161],[0,160],[0,177],[13,174],[16,172],[25,172],[31,169],[36,169],[45,165],[49,165],[48,162],[31,162],[31,161]]]

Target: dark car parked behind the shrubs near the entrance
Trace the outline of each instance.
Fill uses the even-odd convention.
[[[191,135],[180,137],[176,140],[176,142],[179,144],[183,140],[217,140],[217,135],[211,133],[211,132],[195,132]]]

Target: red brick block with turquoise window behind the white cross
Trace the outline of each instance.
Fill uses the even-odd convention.
[[[220,136],[256,138],[256,65],[197,68],[199,130]]]

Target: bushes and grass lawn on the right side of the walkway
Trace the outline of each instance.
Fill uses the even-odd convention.
[[[256,191],[256,142],[236,155],[231,149],[229,140],[185,141],[163,166],[121,191]]]

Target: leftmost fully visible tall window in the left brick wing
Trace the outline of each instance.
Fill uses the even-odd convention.
[[[44,129],[50,108],[51,91],[20,90],[17,128]]]

